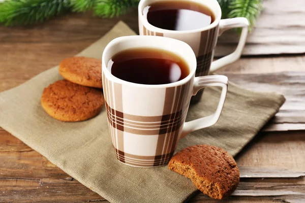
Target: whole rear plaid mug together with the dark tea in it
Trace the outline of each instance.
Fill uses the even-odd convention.
[[[236,61],[245,46],[249,22],[247,18],[221,19],[221,7],[216,0],[140,0],[138,6],[139,33],[161,36],[187,43],[197,58],[197,76],[207,76]],[[214,59],[218,36],[231,28],[242,28],[234,52]],[[203,90],[192,97],[197,103]]]

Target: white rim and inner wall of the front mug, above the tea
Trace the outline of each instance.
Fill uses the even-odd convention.
[[[190,69],[190,73],[186,78],[180,81],[174,83],[162,84],[162,85],[145,85],[145,84],[131,83],[113,76],[107,67],[108,61],[116,53],[132,48],[155,48],[155,49],[161,49],[172,52],[186,61]],[[187,43],[171,38],[157,37],[157,36],[126,36],[126,37],[116,38],[106,46],[102,56],[103,72],[108,79],[120,84],[149,86],[149,88],[153,88],[153,87],[164,88],[164,87],[178,86],[184,84],[195,76],[196,65],[197,65],[196,56],[192,48]]]

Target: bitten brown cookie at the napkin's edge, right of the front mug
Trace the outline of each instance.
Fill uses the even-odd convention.
[[[168,168],[191,179],[201,192],[215,199],[232,194],[239,183],[234,158],[215,146],[187,147],[171,158]]]

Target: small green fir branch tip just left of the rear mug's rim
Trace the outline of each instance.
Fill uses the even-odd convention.
[[[138,4],[139,0],[98,0],[93,10],[97,16],[113,18],[126,13]]]

